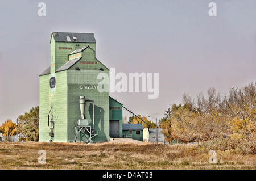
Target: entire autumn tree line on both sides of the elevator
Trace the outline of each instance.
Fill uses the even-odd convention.
[[[167,142],[202,142],[217,137],[230,137],[256,143],[256,83],[230,89],[221,96],[214,87],[206,96],[196,98],[183,94],[180,104],[172,104],[166,117],[159,120],[159,127]],[[140,117],[143,121],[138,119]],[[144,128],[156,128],[145,116],[123,118],[123,123],[141,123]],[[0,127],[3,136],[22,133],[28,140],[39,138],[39,106],[18,117],[18,125],[7,120]],[[256,144],[255,144],[256,145]],[[255,146],[256,147],[256,146]]]

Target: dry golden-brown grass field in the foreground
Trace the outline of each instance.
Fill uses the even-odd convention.
[[[2,143],[0,169],[256,169],[256,155],[217,151],[217,163],[208,153],[193,150],[195,144],[99,144]],[[38,163],[39,150],[46,163]]]

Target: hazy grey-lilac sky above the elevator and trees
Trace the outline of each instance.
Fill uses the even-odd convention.
[[[159,73],[156,99],[148,92],[110,95],[136,115],[160,119],[183,93],[196,98],[215,87],[224,95],[256,82],[255,17],[255,0],[1,1],[0,123],[39,106],[53,31],[94,33],[96,58],[115,73]]]

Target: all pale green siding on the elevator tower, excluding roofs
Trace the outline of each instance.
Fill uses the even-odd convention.
[[[74,42],[55,42],[51,36],[51,74],[39,77],[39,141],[48,142],[74,142],[75,125],[81,119],[79,98],[85,96],[92,99],[95,103],[95,130],[98,133],[93,137],[93,142],[109,141],[109,92],[98,92],[97,85],[101,80],[97,79],[99,73],[109,75],[106,68],[96,58],[96,43],[74,43]],[[82,52],[82,58],[68,70],[56,72],[65,62],[68,61],[68,54],[75,49],[90,46]],[[65,47],[69,49],[60,49]],[[71,48],[71,49],[70,49]],[[88,64],[87,62],[97,62]],[[80,71],[75,67],[78,66]],[[104,70],[99,70],[99,68]],[[49,79],[56,78],[55,88],[50,89]],[[96,89],[81,89],[81,86],[96,86]],[[53,105],[54,136],[49,136],[50,127],[48,126],[48,113]],[[85,116],[89,125],[92,126],[92,103],[87,102]],[[51,117],[50,117],[51,119]]]

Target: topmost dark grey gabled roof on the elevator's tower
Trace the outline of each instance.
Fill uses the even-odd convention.
[[[52,34],[55,42],[96,43],[93,33],[52,32]]]

